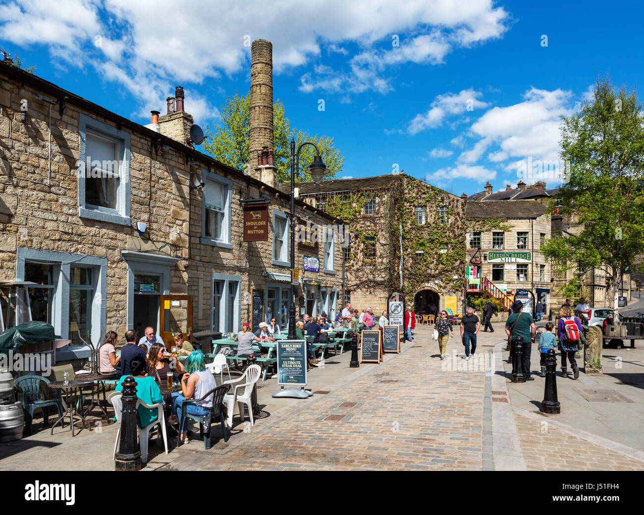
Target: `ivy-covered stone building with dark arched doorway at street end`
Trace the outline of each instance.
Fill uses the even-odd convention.
[[[297,187],[302,200],[349,225],[345,301],[379,314],[387,309],[389,295],[400,292],[417,312],[432,303],[462,312],[466,221],[461,198],[404,173]]]

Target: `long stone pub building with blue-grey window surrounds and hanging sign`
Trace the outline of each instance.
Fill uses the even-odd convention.
[[[266,77],[270,43],[260,46]],[[33,318],[73,343],[88,332],[94,342],[108,330],[142,335],[148,324],[170,341],[176,330],[236,332],[271,315],[287,322],[290,195],[266,174],[263,182],[194,150],[182,88],[166,115],[153,111],[142,126],[0,63],[0,109],[3,312],[8,288],[30,281]],[[253,123],[268,126],[263,117]],[[272,138],[262,138],[272,153]],[[245,208],[260,223],[254,237],[265,239],[245,241]],[[343,225],[301,201],[296,216],[329,236]],[[299,269],[304,254],[325,267],[300,274],[299,312],[307,285],[314,312],[334,314],[339,243],[297,248]]]

